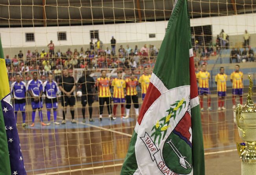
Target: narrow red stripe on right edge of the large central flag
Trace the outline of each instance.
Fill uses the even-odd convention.
[[[190,73],[190,99],[193,99],[198,96],[197,91],[197,79],[195,77],[195,63],[194,57],[190,57],[189,61],[189,73]]]

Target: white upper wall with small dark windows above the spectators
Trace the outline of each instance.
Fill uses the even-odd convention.
[[[114,36],[118,43],[160,41],[164,38],[168,21],[138,22],[105,25],[60,26],[60,27],[16,27],[0,28],[2,46],[41,47],[53,40],[55,46],[87,45],[90,42],[90,30],[99,30],[99,38],[103,43],[110,43]],[[243,34],[245,29],[256,33],[256,14],[217,16],[195,18],[190,20],[191,26],[212,25],[213,35],[221,29],[229,35]],[[25,33],[34,32],[35,41],[26,42]],[[66,32],[66,41],[57,41],[57,32]],[[149,38],[149,33],[156,33],[156,38]]]

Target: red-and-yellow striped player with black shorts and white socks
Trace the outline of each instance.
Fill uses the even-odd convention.
[[[138,92],[136,87],[138,86],[138,79],[135,77],[134,73],[131,74],[131,78],[125,79],[126,82],[126,116],[129,117],[129,112],[131,108],[131,103],[133,100],[134,110],[136,117],[139,115],[139,102],[138,102]]]

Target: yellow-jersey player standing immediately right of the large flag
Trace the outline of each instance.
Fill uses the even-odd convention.
[[[199,92],[200,95],[200,106],[201,111],[204,111],[203,108],[203,97],[204,95],[208,99],[208,110],[212,110],[211,108],[211,97],[210,97],[210,89],[209,89],[209,79],[210,73],[206,70],[206,65],[202,65],[202,69],[197,73],[197,82],[199,84]]]

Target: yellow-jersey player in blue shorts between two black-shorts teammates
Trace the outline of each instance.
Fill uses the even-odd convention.
[[[125,81],[122,79],[122,71],[117,72],[117,78],[113,79],[112,87],[114,87],[113,91],[113,101],[114,101],[114,108],[113,108],[113,114],[114,117],[116,118],[116,108],[117,105],[121,105],[121,116],[124,117],[124,104],[125,103],[125,98],[124,98],[124,88],[125,88]]]

